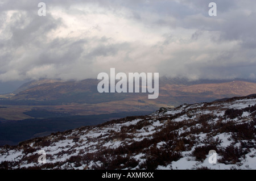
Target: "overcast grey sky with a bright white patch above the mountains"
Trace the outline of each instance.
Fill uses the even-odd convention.
[[[217,16],[209,16],[210,2]],[[255,79],[255,39],[254,0],[0,0],[0,86],[97,78],[110,68]]]

